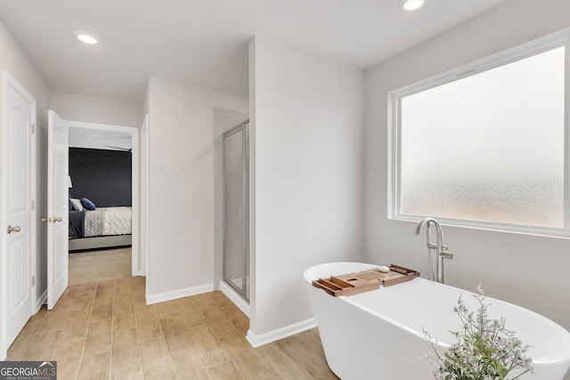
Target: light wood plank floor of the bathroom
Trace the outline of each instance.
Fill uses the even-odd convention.
[[[248,318],[221,292],[147,305],[144,281],[70,285],[29,319],[7,360],[57,360],[60,380],[338,378],[316,329],[253,349]]]

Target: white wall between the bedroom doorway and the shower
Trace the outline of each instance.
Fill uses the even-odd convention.
[[[245,112],[248,98],[149,81],[151,302],[213,287],[215,108]]]

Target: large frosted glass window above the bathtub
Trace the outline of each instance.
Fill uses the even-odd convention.
[[[566,69],[558,44],[397,96],[395,215],[564,229]]]

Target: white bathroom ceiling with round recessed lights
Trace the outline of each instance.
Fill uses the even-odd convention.
[[[0,0],[0,20],[53,92],[138,102],[151,76],[248,93],[252,36],[367,68],[503,1]]]

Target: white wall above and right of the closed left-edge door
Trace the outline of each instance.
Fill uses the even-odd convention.
[[[47,261],[46,261],[46,224],[40,219],[47,213],[47,109],[49,107],[49,89],[44,79],[28,57],[21,51],[4,24],[0,22],[0,69],[7,70],[20,85],[23,85],[37,101],[37,287],[36,298],[41,297],[47,287]],[[0,239],[4,234],[0,234]]]

